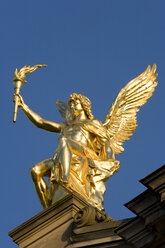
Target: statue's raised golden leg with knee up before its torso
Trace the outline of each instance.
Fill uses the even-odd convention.
[[[62,166],[62,181],[68,183],[70,167],[72,161],[72,154],[82,155],[82,148],[74,141],[60,136],[58,139],[59,160]]]

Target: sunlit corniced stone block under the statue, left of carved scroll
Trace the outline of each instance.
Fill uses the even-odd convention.
[[[88,206],[76,194],[69,194],[9,233],[20,248],[69,247],[75,214]]]

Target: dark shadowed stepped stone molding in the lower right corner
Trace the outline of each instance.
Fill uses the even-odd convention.
[[[140,182],[148,189],[125,204],[137,217],[116,233],[136,248],[165,247],[165,165]]]

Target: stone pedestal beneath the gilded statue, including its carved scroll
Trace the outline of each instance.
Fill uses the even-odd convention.
[[[20,248],[130,248],[114,221],[76,193],[70,193],[9,233]]]

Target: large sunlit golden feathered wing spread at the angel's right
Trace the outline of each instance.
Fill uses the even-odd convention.
[[[122,147],[125,140],[133,134],[137,126],[136,113],[139,107],[146,103],[147,99],[157,86],[156,65],[130,81],[112,103],[103,125],[110,135],[111,146],[115,154],[124,151]]]

